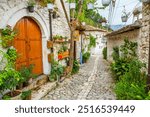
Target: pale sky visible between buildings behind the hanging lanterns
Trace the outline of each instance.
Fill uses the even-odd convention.
[[[97,5],[98,7],[102,6],[101,1],[102,0],[98,0],[98,5]],[[120,24],[121,25],[128,25],[128,24],[133,23],[133,14],[132,14],[133,10],[136,7],[141,6],[141,5],[142,5],[142,3],[139,2],[139,0],[116,0],[116,6],[114,9],[114,12],[111,11],[110,15],[109,15],[109,11],[110,11],[109,8],[110,7],[107,7],[104,10],[100,9],[99,13],[102,16],[109,19],[111,25],[120,25]],[[132,14],[132,15],[130,15],[130,17],[126,23],[122,23],[122,21],[121,21],[122,11],[124,9],[123,6],[125,6],[127,13],[131,12],[131,14]]]

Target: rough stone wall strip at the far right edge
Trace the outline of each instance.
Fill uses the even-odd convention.
[[[147,64],[149,60],[149,39],[150,39],[150,4],[143,4],[142,34],[140,45],[140,60]]]

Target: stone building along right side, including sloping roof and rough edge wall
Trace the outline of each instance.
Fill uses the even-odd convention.
[[[108,60],[112,60],[112,50],[115,46],[120,46],[125,37],[131,41],[138,42],[139,59],[146,63],[148,68],[149,61],[149,40],[150,40],[150,4],[143,3],[142,21],[135,22],[132,25],[126,26],[118,31],[114,31],[106,35],[108,47]]]

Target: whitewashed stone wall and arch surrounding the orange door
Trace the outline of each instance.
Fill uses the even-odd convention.
[[[15,24],[25,16],[34,19],[40,26],[42,32],[43,71],[45,74],[49,74],[50,64],[47,58],[48,53],[50,53],[50,50],[47,49],[47,40],[50,35],[48,10],[47,8],[36,5],[35,12],[29,13],[26,1],[27,0],[0,0],[0,29],[6,27],[6,25],[14,27]],[[65,5],[67,11],[69,11],[68,4],[66,3]],[[60,0],[56,0],[56,6],[58,7],[60,17],[52,20],[53,35],[59,34],[70,38],[70,29]]]

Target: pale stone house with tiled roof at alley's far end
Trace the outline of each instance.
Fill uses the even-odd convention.
[[[93,26],[86,26],[85,31],[80,34],[80,39],[77,41],[76,46],[76,58],[80,60],[81,58],[81,49],[84,49],[84,52],[88,51],[88,45],[90,43],[89,36],[90,34],[96,38],[96,47],[91,48],[91,54],[101,54],[103,47],[105,47],[105,43],[103,43],[104,35],[106,35],[107,31],[99,28],[95,28]],[[82,41],[82,42],[81,42]],[[82,46],[82,47],[81,47]]]

